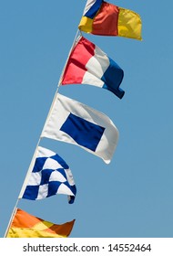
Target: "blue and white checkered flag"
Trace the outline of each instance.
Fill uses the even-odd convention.
[[[36,162],[28,174],[23,191],[19,198],[36,200],[65,194],[68,203],[72,204],[76,196],[76,185],[66,162],[55,152],[38,146]]]

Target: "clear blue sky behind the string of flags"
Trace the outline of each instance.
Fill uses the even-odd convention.
[[[122,100],[89,85],[59,92],[107,114],[119,131],[109,165],[72,144],[42,146],[70,166],[77,194],[17,207],[55,223],[76,219],[71,237],[173,236],[172,1],[109,1],[142,18],[143,41],[84,36],[124,69]],[[46,122],[86,1],[0,1],[0,237]]]

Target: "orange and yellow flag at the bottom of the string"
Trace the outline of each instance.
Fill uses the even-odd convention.
[[[61,225],[28,214],[17,208],[15,217],[6,235],[7,238],[66,238],[69,236],[75,219]]]

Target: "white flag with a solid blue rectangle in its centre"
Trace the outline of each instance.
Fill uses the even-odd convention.
[[[76,144],[109,164],[118,131],[104,113],[57,93],[41,137]]]

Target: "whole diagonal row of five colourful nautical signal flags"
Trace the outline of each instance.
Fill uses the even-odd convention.
[[[104,0],[87,0],[78,28],[100,36],[119,36],[141,40],[142,22],[134,11],[112,5]],[[124,71],[95,44],[78,37],[66,61],[65,72],[58,85],[90,84],[112,91],[122,99],[125,91],[119,88]],[[56,91],[55,101],[40,136],[76,144],[110,163],[116,150],[116,125],[102,112],[67,98]],[[40,142],[39,139],[39,142]],[[38,143],[39,144],[39,143]],[[66,162],[55,152],[37,146],[35,165],[18,197],[30,200],[65,194],[72,204],[76,185]],[[8,238],[68,237],[75,219],[61,225],[37,218],[15,208],[7,230]]]

